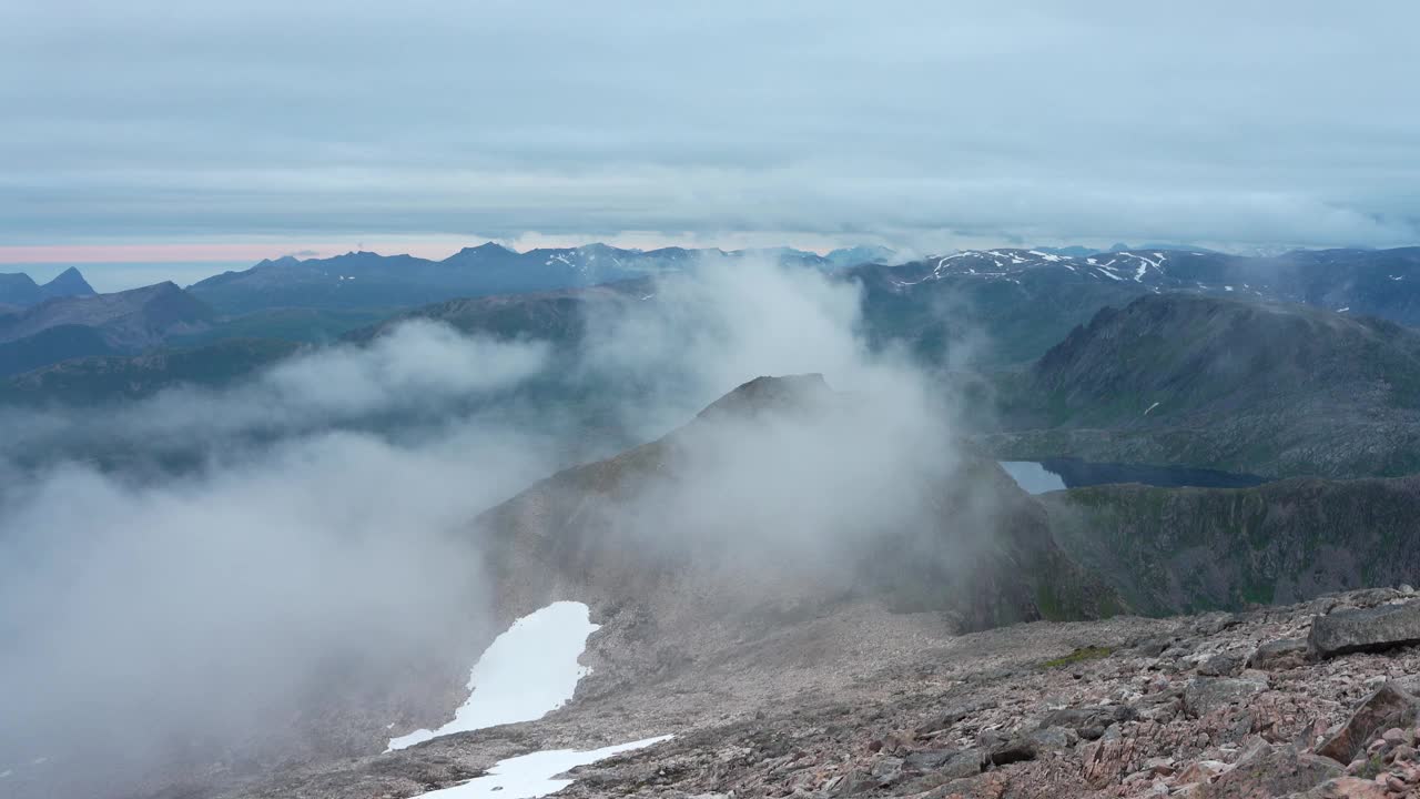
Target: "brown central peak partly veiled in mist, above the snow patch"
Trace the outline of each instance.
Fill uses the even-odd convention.
[[[866,599],[964,630],[1118,610],[1000,466],[900,422],[819,375],[747,382],[662,439],[484,513],[497,593],[513,608],[640,608],[667,645],[711,618]]]

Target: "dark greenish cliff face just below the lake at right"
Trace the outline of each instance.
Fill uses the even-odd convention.
[[[1142,613],[1292,603],[1420,580],[1420,476],[1039,498],[1061,546]]]

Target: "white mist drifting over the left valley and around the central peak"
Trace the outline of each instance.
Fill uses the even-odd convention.
[[[897,476],[954,468],[949,404],[906,357],[868,347],[853,283],[707,262],[585,323],[571,367],[547,343],[412,321],[224,390],[7,411],[7,439],[27,429],[31,448],[197,456],[0,466],[0,788],[62,776],[142,793],[212,762],[240,778],[379,751],[386,725],[452,714],[459,697],[429,685],[463,682],[510,577],[488,573],[471,522],[565,466],[585,435],[579,408],[520,408],[532,381],[606,388],[636,441],[760,375],[851,390],[852,404],[790,424],[694,425],[683,478],[623,509],[648,522],[676,509],[672,530],[636,526],[650,537],[777,530],[728,539],[778,553],[767,563],[852,542],[818,547],[842,567],[866,540],[855,535],[919,518],[919,483]],[[335,719],[373,732],[332,732]]]

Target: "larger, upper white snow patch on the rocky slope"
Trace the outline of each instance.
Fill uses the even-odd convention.
[[[469,701],[439,729],[416,729],[389,741],[389,749],[439,735],[532,721],[572,698],[588,670],[577,663],[596,630],[579,601],[555,601],[513,623],[488,644],[469,674]],[[557,772],[552,772],[557,773]],[[507,798],[504,798],[507,799]]]

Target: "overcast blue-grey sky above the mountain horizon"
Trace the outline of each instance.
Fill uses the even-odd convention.
[[[3,3],[0,270],[1414,245],[1417,24],[1366,0]]]

